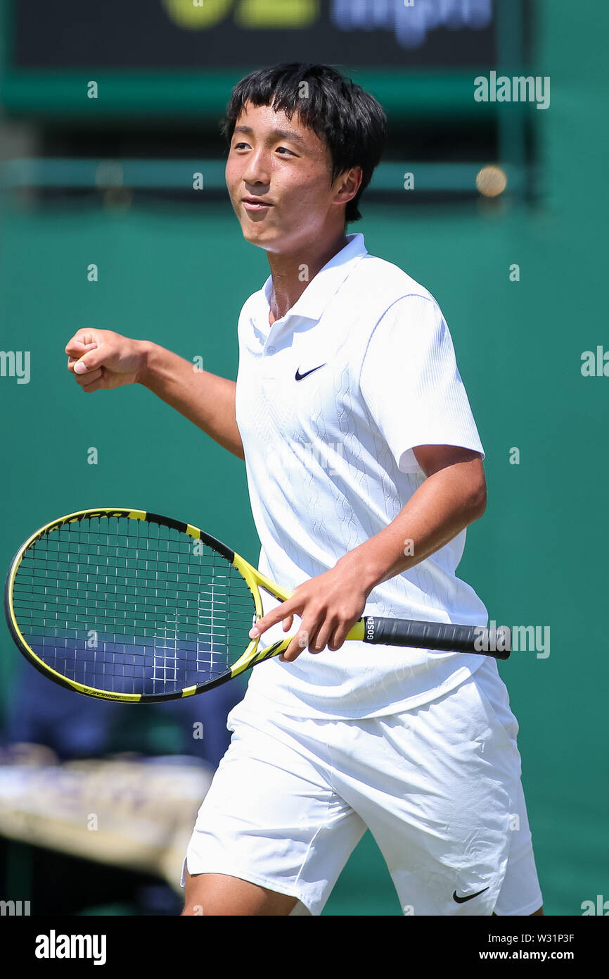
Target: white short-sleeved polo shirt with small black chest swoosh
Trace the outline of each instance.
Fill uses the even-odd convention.
[[[400,513],[425,479],[413,446],[461,445],[484,458],[438,303],[369,255],[363,234],[347,240],[272,326],[270,276],[239,316],[237,422],[259,568],[290,589]],[[485,626],[484,604],[455,574],[464,543],[462,531],[379,584],[367,613]],[[265,611],[275,604],[267,597]],[[284,634],[279,624],[261,643]],[[378,717],[435,699],[483,660],[348,641],[254,667],[247,697],[291,716]]]

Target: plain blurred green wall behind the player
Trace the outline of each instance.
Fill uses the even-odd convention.
[[[371,254],[426,286],[451,328],[489,485],[458,574],[492,619],[550,628],[549,657],[514,653],[500,674],[520,723],[545,911],[578,915],[583,901],[609,897],[601,615],[609,377],[581,373],[585,350],[609,350],[609,13],[602,0],[536,8],[531,70],[550,76],[551,104],[532,107],[535,198],[416,207],[405,195],[396,208],[370,193],[364,219],[348,231],[362,231]],[[239,309],[268,264],[242,241],[228,197],[204,209],[78,200],[40,207],[7,190],[1,217],[0,346],[31,351],[31,380],[0,378],[0,566],[35,528],[90,505],[175,515],[255,561],[239,460],[148,392],[83,396],[65,370],[66,341],[96,326],[201,355],[206,370],[236,376]],[[99,282],[87,281],[90,262]],[[509,279],[512,263],[518,282]],[[91,446],[97,465],[87,463]],[[519,465],[509,462],[514,446]],[[6,629],[0,654],[6,706],[18,659]],[[400,913],[370,834],[325,913]]]

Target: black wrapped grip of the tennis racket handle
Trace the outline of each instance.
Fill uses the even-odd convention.
[[[441,652],[478,653],[506,660],[511,649],[511,629],[497,626],[456,626],[445,622],[413,622],[366,616],[364,642],[385,646],[415,646]]]

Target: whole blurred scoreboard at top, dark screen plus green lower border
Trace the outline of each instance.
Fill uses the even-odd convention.
[[[500,10],[517,21],[521,0],[0,3],[9,112],[200,117],[217,116],[247,71],[289,61],[333,65],[389,103],[403,78],[466,77],[473,103],[473,74],[497,63]]]

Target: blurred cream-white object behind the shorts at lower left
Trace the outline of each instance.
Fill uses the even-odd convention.
[[[180,893],[180,872],[213,769],[190,756],[59,763],[39,745],[0,758],[0,833],[86,860],[156,873]]]

